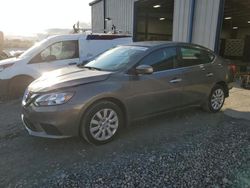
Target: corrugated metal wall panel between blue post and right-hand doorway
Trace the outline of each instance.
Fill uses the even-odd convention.
[[[193,43],[215,48],[220,0],[196,0]]]

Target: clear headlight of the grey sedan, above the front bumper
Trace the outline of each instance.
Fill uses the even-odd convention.
[[[68,102],[73,97],[73,95],[74,93],[71,92],[45,94],[38,97],[34,104],[36,106],[60,105]]]

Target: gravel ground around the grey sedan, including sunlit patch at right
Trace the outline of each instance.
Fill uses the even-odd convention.
[[[0,187],[248,188],[249,106],[250,91],[236,88],[221,113],[192,108],[135,122],[95,147],[79,138],[31,137],[20,102],[2,103]]]

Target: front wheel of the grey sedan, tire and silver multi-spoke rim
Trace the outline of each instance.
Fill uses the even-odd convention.
[[[84,114],[80,135],[89,143],[102,145],[112,141],[124,124],[121,108],[110,101],[92,105]]]

